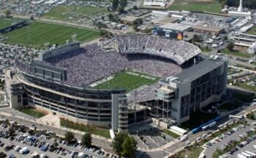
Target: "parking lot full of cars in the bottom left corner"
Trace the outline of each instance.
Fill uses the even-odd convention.
[[[34,157],[39,157],[43,154],[46,157],[100,158],[106,155],[100,148],[88,148],[80,145],[79,141],[67,143],[55,137],[52,132],[37,130],[34,134],[22,124],[16,125],[15,129],[12,135],[5,122],[2,121],[0,125],[0,151],[7,153],[7,156],[32,157],[34,155]]]

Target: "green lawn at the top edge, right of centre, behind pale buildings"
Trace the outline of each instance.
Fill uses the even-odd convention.
[[[174,4],[168,7],[168,10],[189,10],[189,11],[206,11],[221,12],[221,4],[218,1],[196,1],[196,0],[175,0]]]

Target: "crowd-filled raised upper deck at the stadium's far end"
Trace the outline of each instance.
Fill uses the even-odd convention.
[[[171,40],[154,35],[117,35],[121,53],[152,54],[174,60],[179,65],[200,54],[200,49],[183,40]]]

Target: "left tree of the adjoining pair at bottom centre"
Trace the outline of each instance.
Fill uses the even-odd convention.
[[[117,154],[121,154],[121,152],[123,151],[122,144],[124,143],[124,140],[126,137],[129,137],[127,133],[118,133],[115,135],[115,138],[112,142],[112,146],[113,146],[113,150]]]

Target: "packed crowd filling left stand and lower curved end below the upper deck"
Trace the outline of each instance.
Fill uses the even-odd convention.
[[[173,76],[182,71],[179,65],[168,59],[145,54],[123,55],[116,51],[105,53],[96,44],[59,54],[41,62],[64,68],[67,71],[67,80],[64,83],[78,87],[88,86],[99,79],[126,70],[160,77]],[[16,67],[29,73],[29,68],[24,68],[25,65],[22,63],[17,63]]]

